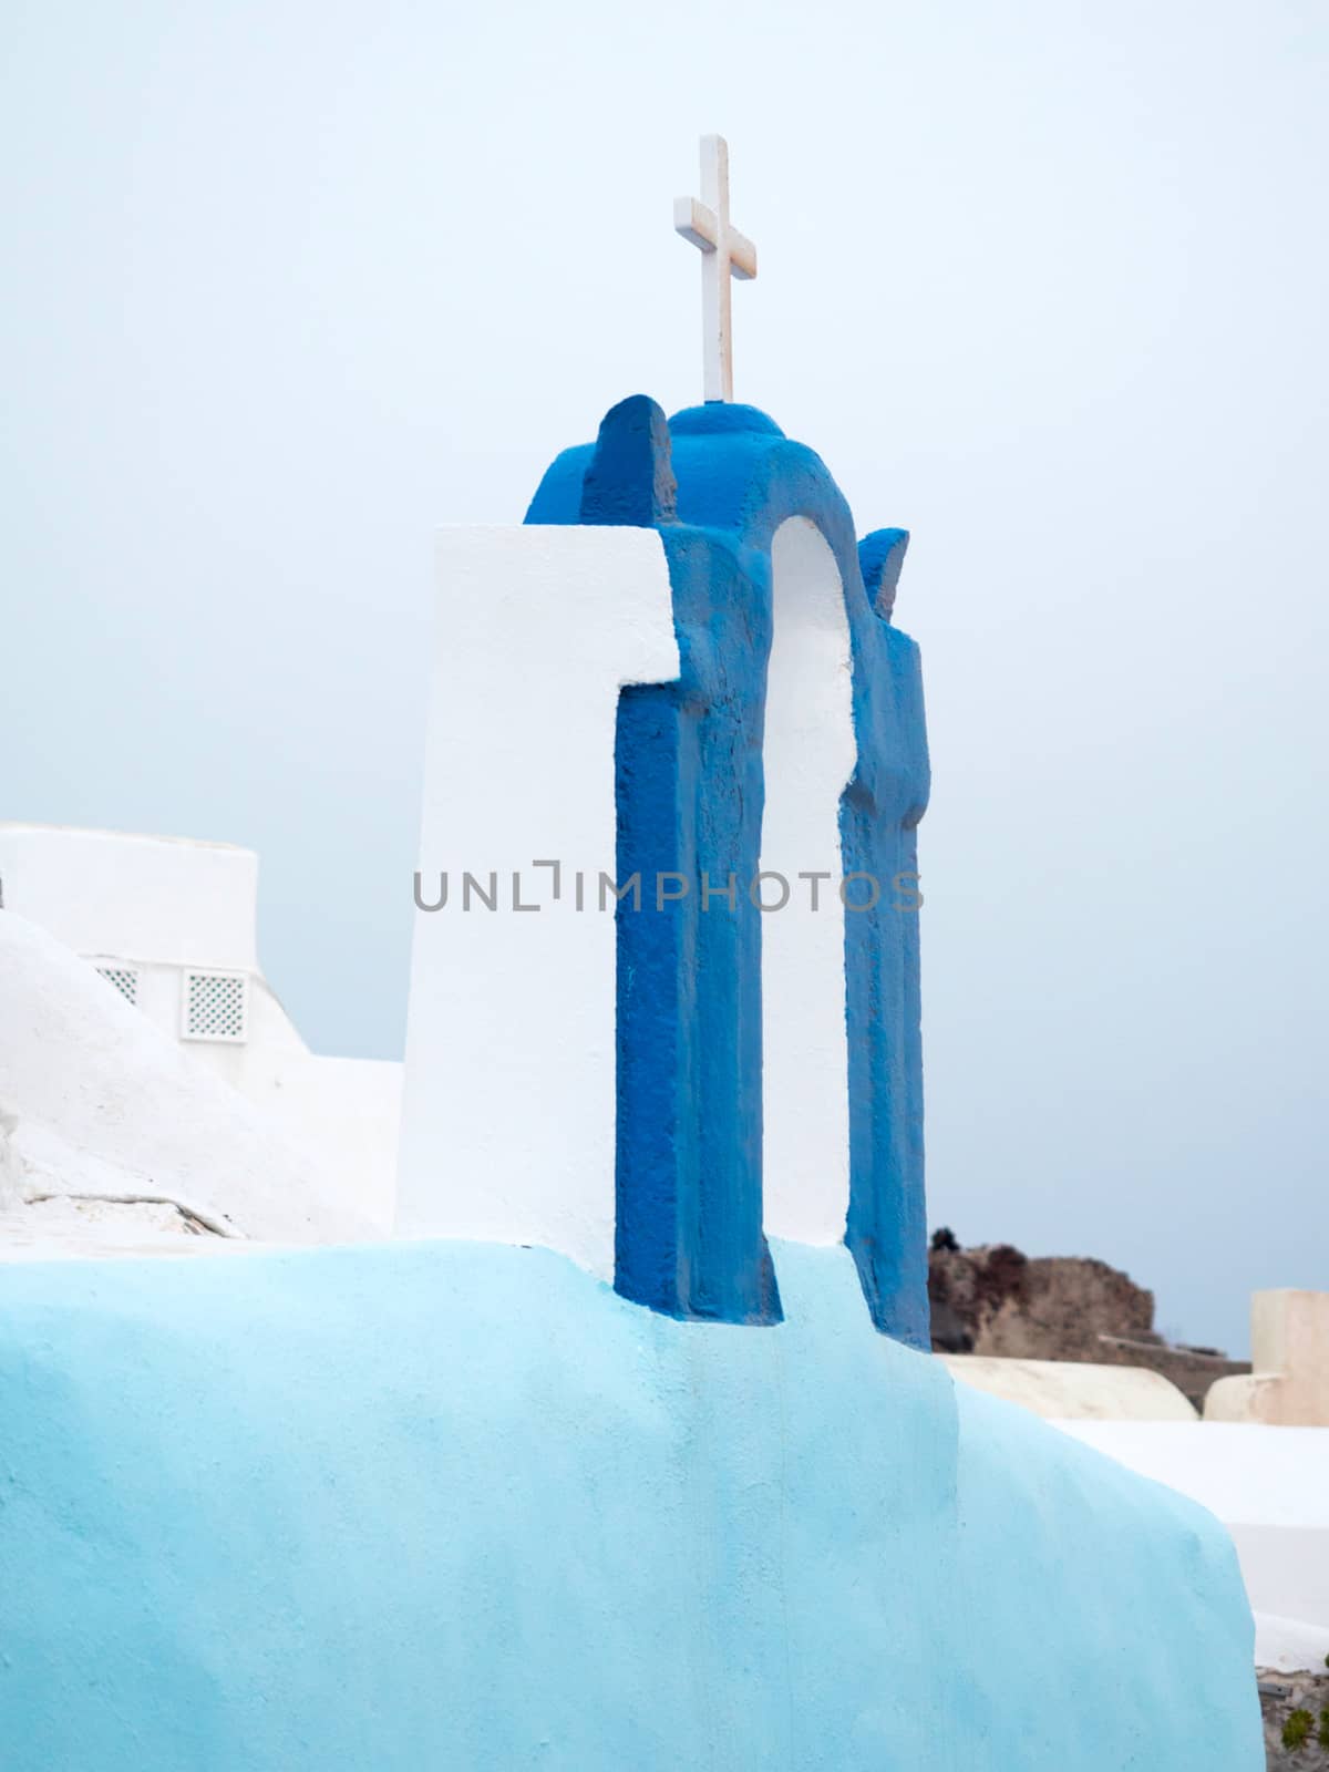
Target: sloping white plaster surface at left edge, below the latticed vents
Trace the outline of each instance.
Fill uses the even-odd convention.
[[[276,1242],[372,1232],[351,1189],[273,1116],[197,1065],[87,960],[4,911],[0,1244],[32,1247],[50,1219],[41,1196],[78,1194],[177,1201],[222,1230]],[[82,1212],[80,1239],[99,1240],[96,1217]],[[156,1233],[159,1214],[136,1214],[135,1226]],[[62,1226],[48,1230],[60,1239]]]

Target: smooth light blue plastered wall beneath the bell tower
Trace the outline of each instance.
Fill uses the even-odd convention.
[[[776,1258],[7,1267],[5,1772],[1256,1772],[1221,1527]]]

